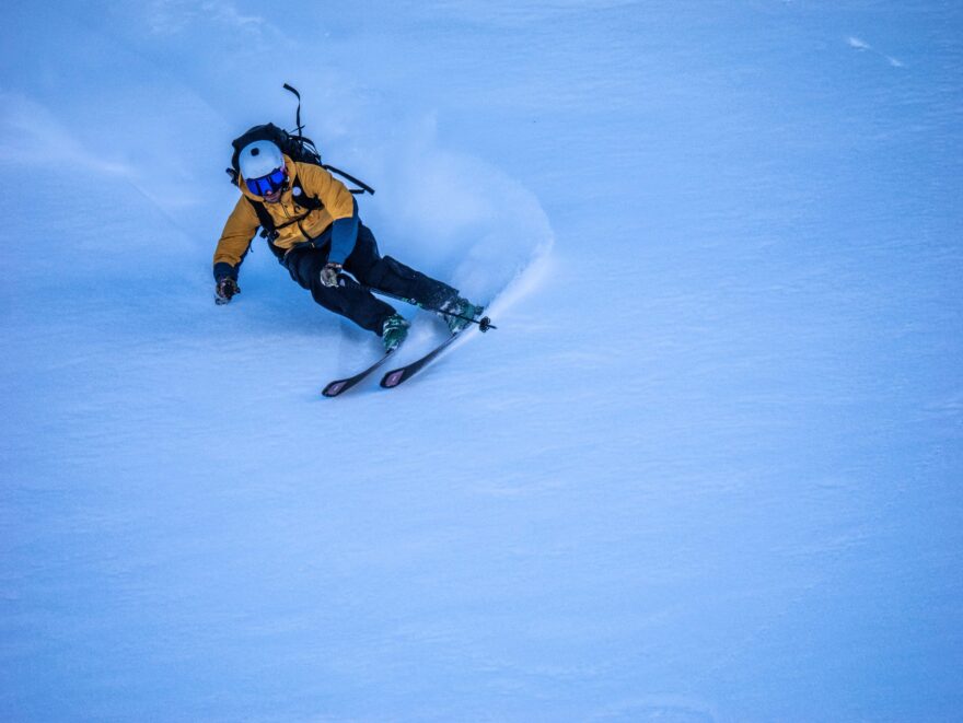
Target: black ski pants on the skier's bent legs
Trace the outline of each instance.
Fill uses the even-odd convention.
[[[325,235],[328,236],[327,240]],[[288,269],[291,278],[311,292],[314,301],[379,336],[384,320],[395,310],[363,287],[381,289],[433,308],[459,294],[446,283],[427,277],[391,256],[382,257],[378,252],[374,234],[363,223],[358,224],[355,250],[345,259],[345,270],[363,287],[348,277],[341,277],[340,284],[334,288],[325,287],[321,282],[321,269],[327,264],[330,252],[329,231],[313,245],[297,246],[286,253],[283,248],[271,244],[270,249],[281,266]]]

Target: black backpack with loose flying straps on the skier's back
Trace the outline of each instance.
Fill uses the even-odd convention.
[[[368,184],[358,180],[358,178],[355,178],[353,176],[345,173],[339,168],[334,167],[333,165],[322,163],[321,152],[318,152],[317,147],[314,144],[314,141],[305,137],[301,132],[304,129],[304,126],[301,125],[301,94],[287,83],[285,83],[285,90],[290,91],[298,96],[298,113],[295,116],[298,135],[295,136],[293,132],[288,132],[283,128],[278,128],[272,123],[266,123],[264,125],[254,126],[253,128],[247,129],[244,133],[231,141],[231,145],[234,148],[234,153],[231,156],[231,167],[225,168],[228,175],[231,177],[231,183],[239,187],[241,185],[241,168],[237,164],[237,156],[241,154],[241,151],[244,149],[244,147],[255,141],[270,141],[279,149],[281,149],[281,153],[289,156],[292,161],[311,163],[313,165],[321,166],[325,171],[335,173],[355,184],[356,186],[359,186],[359,188],[348,189],[352,194],[363,194],[367,191],[373,196],[374,189]],[[294,196],[298,198],[298,206],[301,206],[309,210],[320,209],[324,207],[324,203],[321,201],[320,198],[314,198],[313,196],[309,196],[306,193],[304,193],[304,189],[301,187],[301,182],[298,178],[294,179],[291,189]],[[244,198],[247,197],[245,196]],[[270,213],[268,213],[267,209],[264,207],[264,203],[262,203],[260,201],[255,201],[251,198],[247,198],[247,201],[254,207],[255,213],[257,213],[257,220],[260,222],[262,226],[260,235],[265,238],[268,238],[269,241],[276,238],[277,226],[275,225]]]

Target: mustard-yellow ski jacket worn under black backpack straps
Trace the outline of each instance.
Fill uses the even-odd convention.
[[[351,193],[340,180],[332,176],[321,166],[311,163],[299,163],[285,156],[285,165],[288,170],[288,187],[281,193],[277,203],[267,203],[263,196],[256,196],[247,189],[243,178],[240,182],[241,198],[228,217],[218,247],[214,250],[214,268],[227,264],[236,273],[244,255],[251,246],[254,234],[257,233],[260,221],[257,212],[248,199],[264,205],[270,214],[278,232],[274,240],[279,248],[293,248],[298,244],[305,243],[321,236],[337,219],[348,219],[355,213],[355,199]],[[298,205],[298,197],[293,195],[293,182],[298,178],[304,194],[316,198],[323,206],[317,209],[306,209]],[[245,198],[246,197],[246,198]],[[222,266],[220,268],[223,268]]]

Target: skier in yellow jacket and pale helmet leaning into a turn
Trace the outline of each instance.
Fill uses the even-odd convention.
[[[266,229],[268,247],[291,278],[325,308],[379,335],[385,351],[404,341],[409,324],[364,287],[438,310],[452,334],[483,312],[452,287],[391,256],[382,257],[374,235],[358,218],[353,196],[325,168],[295,162],[267,140],[245,145],[237,161],[242,196],[213,258],[218,304],[227,304],[241,291],[237,270],[258,226],[266,225],[255,207],[263,203],[274,225]],[[341,275],[341,269],[361,283]]]

